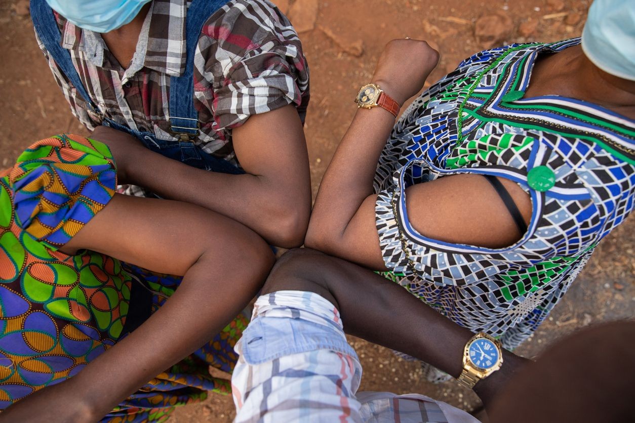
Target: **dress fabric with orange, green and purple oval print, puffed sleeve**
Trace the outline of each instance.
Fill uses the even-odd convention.
[[[57,251],[109,202],[116,167],[107,146],[79,136],[39,141],[0,174],[0,409],[76,375],[123,335],[133,283],[159,308],[181,278],[159,275],[91,251]],[[175,405],[229,393],[239,316],[105,417],[160,421]],[[161,334],[157,334],[160,336]]]

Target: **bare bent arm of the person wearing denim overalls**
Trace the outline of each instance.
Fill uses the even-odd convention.
[[[279,247],[304,242],[311,177],[302,124],[292,105],[253,115],[233,129],[242,175],[207,172],[149,153],[107,127],[95,129],[93,138],[110,146],[124,181],[224,214]]]

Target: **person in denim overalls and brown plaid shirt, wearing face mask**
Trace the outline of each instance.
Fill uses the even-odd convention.
[[[135,157],[125,193],[201,205],[272,245],[302,245],[309,68],[276,6],[32,0],[30,13],[72,113],[88,129],[122,131],[124,155]]]

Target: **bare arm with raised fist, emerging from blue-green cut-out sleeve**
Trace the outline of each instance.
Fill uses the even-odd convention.
[[[393,40],[379,60],[373,81],[403,103],[423,86],[437,60],[438,53],[423,41]],[[322,179],[307,247],[385,269],[375,228],[373,176],[393,125],[394,117],[382,108],[358,110]],[[528,195],[511,181],[501,182],[528,221]],[[414,228],[430,238],[503,247],[520,237],[502,200],[482,176],[446,176],[410,186],[406,206]]]

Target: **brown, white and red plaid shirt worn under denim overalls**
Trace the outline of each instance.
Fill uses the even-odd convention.
[[[184,72],[185,17],[189,1],[154,0],[137,52],[128,68],[110,53],[97,32],[83,30],[55,13],[62,47],[69,49],[84,87],[100,112],[131,129],[170,134],[170,77]],[[74,115],[89,129],[100,125],[84,100],[40,48]],[[231,129],[250,115],[294,104],[304,117],[309,68],[289,20],[267,0],[232,0],[203,25],[194,57],[194,103],[201,129],[194,143],[236,164]]]

